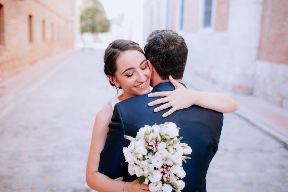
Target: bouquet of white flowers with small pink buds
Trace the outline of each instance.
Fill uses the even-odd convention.
[[[149,184],[153,192],[181,192],[185,187],[186,176],[182,161],[191,159],[184,155],[192,153],[186,143],[180,143],[179,129],[175,123],[145,125],[137,132],[136,138],[124,135],[131,141],[123,148],[125,162],[128,162],[130,175],[136,174],[140,184]]]

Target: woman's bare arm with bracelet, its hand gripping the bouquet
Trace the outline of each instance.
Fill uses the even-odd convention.
[[[104,107],[96,116],[92,132],[91,146],[86,167],[86,182],[91,189],[99,192],[121,192],[124,182],[110,179],[108,176],[99,173],[100,153],[104,149],[105,140],[109,131],[111,114],[110,106]],[[147,191],[145,184],[139,184],[137,180],[126,182],[124,191]]]

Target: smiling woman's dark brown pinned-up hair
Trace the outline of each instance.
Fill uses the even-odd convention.
[[[117,39],[109,44],[104,54],[104,73],[107,76],[115,76],[115,72],[117,71],[116,59],[122,52],[128,50],[137,50],[144,55],[144,52],[139,46],[139,44],[135,43],[134,41]],[[112,86],[116,87],[114,82],[109,82]]]

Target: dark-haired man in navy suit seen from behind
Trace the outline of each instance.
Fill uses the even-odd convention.
[[[154,88],[151,92],[174,90],[169,75],[179,82],[182,80],[188,52],[184,39],[171,30],[156,30],[147,38],[144,50],[152,64],[151,86]],[[205,177],[217,151],[223,114],[192,105],[163,118],[162,114],[171,108],[163,110],[163,113],[154,113],[154,107],[149,107],[148,103],[155,99],[140,95],[115,105],[105,147],[101,152],[99,172],[112,179],[123,176],[123,181],[134,181],[137,177],[128,173],[128,163],[125,163],[122,153],[123,147],[129,145],[123,135],[135,137],[144,125],[174,122],[181,128],[179,137],[184,137],[181,142],[187,143],[193,150],[188,155],[191,160],[183,164],[186,177],[182,191],[206,192]]]

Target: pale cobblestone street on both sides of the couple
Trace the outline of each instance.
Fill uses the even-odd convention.
[[[89,191],[85,167],[95,115],[116,94],[103,55],[103,49],[76,51],[5,95],[14,99],[0,111],[0,191]],[[245,119],[224,114],[207,191],[287,192],[288,150]]]

